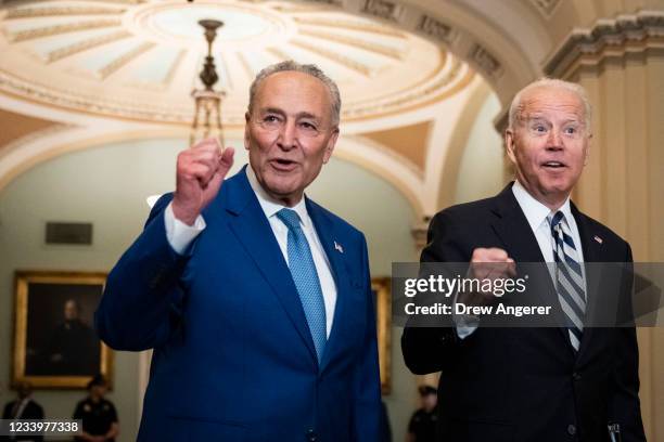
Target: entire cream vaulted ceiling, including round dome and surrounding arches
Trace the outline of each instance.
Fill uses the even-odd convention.
[[[241,138],[248,84],[261,67],[316,63],[342,92],[339,154],[394,183],[418,213],[431,213],[450,152],[460,148],[454,134],[471,126],[467,110],[491,93],[505,109],[575,27],[648,2],[636,0],[629,11],[623,3],[0,0],[0,129],[9,133],[0,190],[65,152],[186,136],[206,50],[195,22],[205,17],[226,22],[215,56],[232,136]]]

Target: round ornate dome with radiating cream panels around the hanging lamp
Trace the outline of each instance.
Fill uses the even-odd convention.
[[[325,3],[22,1],[0,14],[0,91],[143,121],[191,120],[206,53],[201,18],[225,23],[215,57],[227,123],[243,122],[258,70],[288,58],[337,81],[345,121],[438,102],[473,76],[426,39]]]

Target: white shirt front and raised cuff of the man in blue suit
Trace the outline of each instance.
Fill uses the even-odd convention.
[[[279,243],[281,253],[288,263],[289,227],[277,217],[277,212],[286,206],[278,200],[274,200],[267,194],[267,192],[265,192],[265,190],[258,183],[256,174],[251,166],[246,167],[246,177],[252,190],[258,198],[260,208],[270,223],[270,227],[272,227],[272,233],[277,238],[277,243]],[[194,240],[196,236],[199,236],[199,234],[205,229],[206,224],[202,216],[196,218],[193,225],[190,226],[184,224],[182,221],[175,218],[171,204],[168,205],[164,212],[166,237],[170,244],[170,247],[173,247],[176,252],[181,255],[184,252],[184,250],[187,250],[187,247],[189,247],[191,242]],[[325,255],[318,234],[316,233],[314,222],[307,212],[305,198],[303,197],[294,207],[288,208],[295,210],[299,216],[302,230],[307,238],[307,242],[309,243],[309,248],[311,249],[314,264],[316,265],[318,278],[320,280],[320,288],[322,289],[323,300],[325,303],[325,325],[329,338],[330,332],[332,330],[332,322],[334,320],[334,308],[336,306],[336,285],[334,284],[334,277],[332,276],[330,261],[328,260],[328,256]]]

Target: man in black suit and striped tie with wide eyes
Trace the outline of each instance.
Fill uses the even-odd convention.
[[[551,79],[527,86],[512,102],[506,131],[516,181],[431,222],[422,262],[470,262],[477,278],[510,277],[520,263],[556,263],[556,272],[545,270],[550,290],[541,295],[563,320],[560,327],[490,328],[486,321],[483,327],[486,317],[457,315],[442,327],[406,327],[410,369],[442,372],[440,441],[605,442],[609,424],[618,425],[625,442],[644,440],[634,327],[585,327],[589,310],[605,301],[604,288],[621,287],[628,298],[631,286],[621,272],[605,275],[617,284],[602,288],[583,265],[631,263],[629,245],[570,200],[588,156],[590,120],[579,86]],[[493,298],[457,296],[475,306]],[[621,301],[629,316],[629,300]]]

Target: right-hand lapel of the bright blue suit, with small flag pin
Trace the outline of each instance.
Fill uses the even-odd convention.
[[[337,347],[343,343],[340,341],[340,334],[344,328],[344,317],[346,309],[348,308],[348,295],[350,290],[350,283],[346,265],[344,263],[343,244],[340,243],[341,238],[335,236],[335,229],[333,222],[325,214],[324,210],[316,203],[307,198],[307,211],[314,226],[316,234],[320,239],[323,250],[330,262],[332,276],[334,277],[334,284],[336,285],[336,306],[334,307],[334,316],[332,318],[332,330],[330,332],[330,338],[323,352],[323,358],[320,365],[322,372],[329,364],[330,360],[334,356]]]

